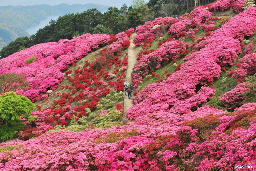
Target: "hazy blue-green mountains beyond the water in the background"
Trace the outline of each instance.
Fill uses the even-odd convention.
[[[106,12],[109,7],[99,4],[0,6],[0,50],[17,37],[29,36],[25,29],[47,19],[47,15],[84,12],[91,8]]]

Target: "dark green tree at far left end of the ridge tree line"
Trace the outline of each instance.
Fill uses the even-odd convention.
[[[7,46],[4,46],[0,51],[0,56],[6,58],[9,55],[12,55],[15,52],[27,49],[31,46],[30,39],[26,37],[18,37],[16,40],[10,42]]]

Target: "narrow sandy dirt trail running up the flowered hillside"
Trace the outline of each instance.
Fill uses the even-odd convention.
[[[134,64],[137,62],[138,53],[140,50],[140,47],[136,47],[133,44],[133,39],[136,36],[136,33],[133,33],[131,35],[131,45],[128,48],[128,66],[127,66],[127,73],[126,73],[126,80],[129,82],[129,84],[132,84],[131,82],[131,74],[132,74],[132,68]],[[129,85],[130,86],[130,85]],[[126,113],[127,110],[132,107],[132,98],[129,99],[128,96],[125,95],[124,91],[124,114],[123,114],[123,123],[127,123],[128,120],[126,119]]]

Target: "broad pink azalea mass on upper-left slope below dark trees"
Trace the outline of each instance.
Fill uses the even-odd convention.
[[[106,34],[84,34],[58,43],[41,43],[1,60],[0,74],[24,74],[29,84],[27,90],[20,90],[19,93],[35,102],[40,99],[41,93],[47,89],[54,90],[60,85],[64,79],[62,71],[71,63],[82,59],[100,45],[109,43],[109,39]],[[25,61],[30,57],[36,57],[36,61],[26,64]]]

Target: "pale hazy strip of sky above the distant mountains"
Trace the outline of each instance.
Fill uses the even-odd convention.
[[[144,0],[148,2],[148,0]],[[116,6],[120,8],[124,3],[127,6],[131,5],[131,0],[0,0],[0,6],[6,5],[36,5],[36,4],[48,4],[48,5],[58,5],[58,4],[102,4],[109,6]]]

